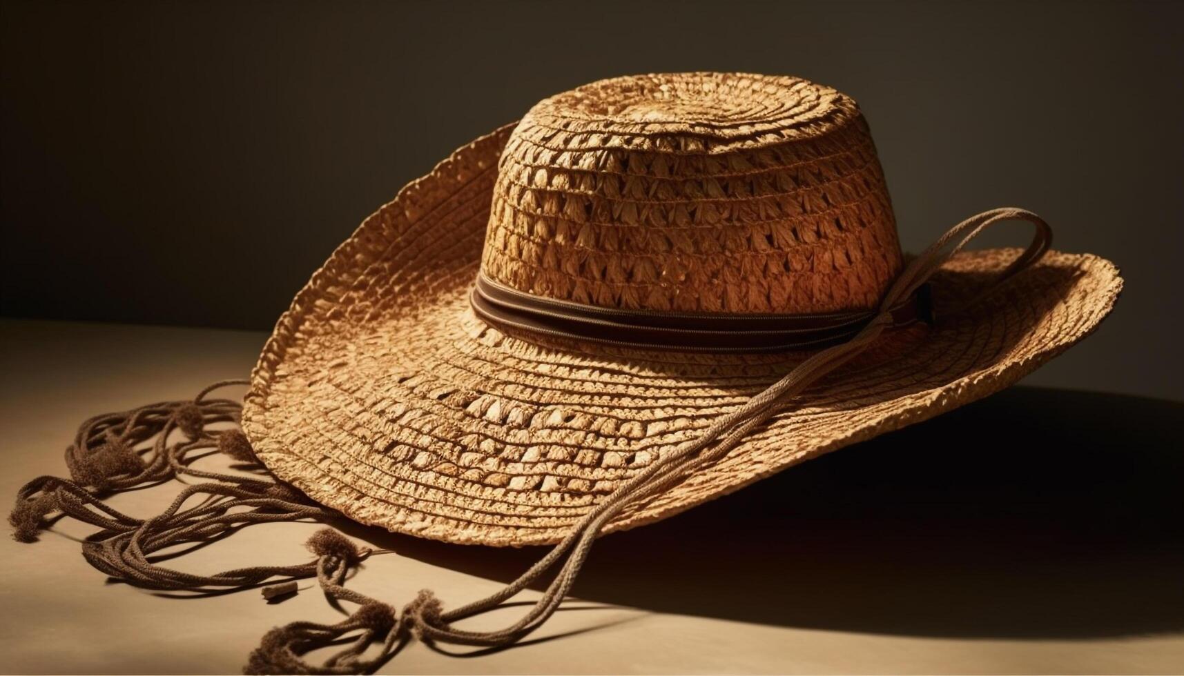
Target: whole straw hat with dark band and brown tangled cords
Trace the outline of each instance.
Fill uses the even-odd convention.
[[[961,251],[1004,220],[1035,227],[1025,247]],[[315,569],[162,569],[154,547],[217,530],[176,506],[147,526],[104,511],[88,559],[155,586],[317,574],[360,604],[337,625],[274,630],[255,671],[372,668],[360,649],[317,668],[300,657],[354,630],[387,652],[411,633],[516,640],[596,536],[991,394],[1083,339],[1121,278],[1049,242],[1037,215],[999,208],[905,257],[868,124],[834,89],[734,73],[592,83],[458,149],[337,247],[268,341],[242,433],[211,427],[238,408],[206,393],[98,417],[67,453],[73,481],[31,483],[13,522],[31,537],[53,509],[85,519],[96,487],[193,474],[185,453],[218,445],[278,479],[201,475],[257,521],[340,511],[448,542],[558,546],[448,612],[427,593],[399,612],[345,590],[366,553],[332,532],[310,542]],[[174,427],[186,442],[166,440]],[[511,627],[453,626],[556,566]]]

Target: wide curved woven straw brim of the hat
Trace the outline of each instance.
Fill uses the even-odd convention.
[[[359,522],[458,543],[555,542],[803,359],[539,345],[476,318],[468,291],[510,129],[457,150],[369,217],[296,296],[252,373],[243,427],[259,458]],[[882,337],[607,530],[997,392],[1093,331],[1121,290],[1108,260],[1049,252],[942,316],[1014,256],[957,256],[933,281],[935,326]]]

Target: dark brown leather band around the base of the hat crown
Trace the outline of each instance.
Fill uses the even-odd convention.
[[[498,327],[651,349],[691,352],[780,352],[843,342],[877,314],[723,314],[623,310],[526,294],[484,272],[469,295],[478,317]],[[893,327],[932,323],[928,285],[893,307]]]

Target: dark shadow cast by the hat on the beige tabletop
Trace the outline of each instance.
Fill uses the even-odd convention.
[[[601,603],[806,629],[1088,638],[1184,629],[1184,404],[1016,387],[604,537]],[[509,581],[545,548],[345,526]]]

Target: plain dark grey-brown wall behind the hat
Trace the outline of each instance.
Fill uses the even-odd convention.
[[[906,247],[1017,205],[1122,268],[1114,316],[1037,382],[1184,399],[1182,25],[1140,2],[6,2],[2,313],[270,328],[363,217],[542,97],[792,73],[863,107]]]

